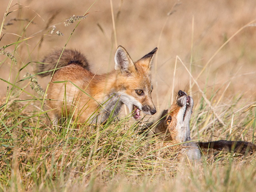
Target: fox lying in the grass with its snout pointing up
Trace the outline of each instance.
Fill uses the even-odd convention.
[[[189,160],[201,158],[200,148],[226,149],[236,153],[252,153],[256,146],[251,142],[218,140],[211,142],[189,142],[189,121],[192,114],[194,101],[186,92],[179,91],[176,100],[168,110],[164,110],[156,127],[148,133],[148,136],[158,136],[171,144],[181,144],[179,155]],[[185,143],[184,143],[185,142]]]

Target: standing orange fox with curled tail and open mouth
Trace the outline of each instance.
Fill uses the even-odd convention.
[[[64,116],[72,116],[78,123],[104,123],[110,115],[116,117],[123,104],[135,119],[140,119],[140,111],[155,114],[150,69],[156,51],[157,48],[133,62],[119,46],[115,70],[102,75],[93,74],[85,56],[76,50],[65,49],[62,55],[62,50],[57,50],[45,56],[43,63],[49,64],[40,64],[38,72],[46,71],[41,76],[60,68],[53,74],[47,91],[46,104],[52,109],[49,116],[53,123]]]

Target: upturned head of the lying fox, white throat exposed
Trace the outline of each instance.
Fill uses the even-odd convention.
[[[190,130],[189,121],[192,114],[194,101],[192,97],[187,96],[186,92],[179,91],[172,106],[164,110],[162,119],[156,127],[156,133],[167,134],[165,140],[176,140],[180,142],[189,141]]]

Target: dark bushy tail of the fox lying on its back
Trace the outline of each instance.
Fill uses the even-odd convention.
[[[256,150],[256,145],[246,141],[211,141],[211,142],[198,142],[200,148],[213,148],[217,150],[233,151],[241,154],[252,154]]]

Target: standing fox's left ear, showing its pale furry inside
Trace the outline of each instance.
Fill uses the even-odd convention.
[[[133,61],[127,51],[122,46],[118,46],[115,54],[115,69],[122,73],[131,73],[134,68]]]

